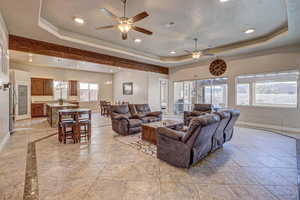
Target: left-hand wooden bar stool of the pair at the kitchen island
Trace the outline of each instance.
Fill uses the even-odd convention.
[[[67,139],[76,143],[76,113],[71,110],[60,110],[58,120],[58,140],[66,144]]]

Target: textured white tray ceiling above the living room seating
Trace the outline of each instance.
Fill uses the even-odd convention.
[[[149,12],[150,17],[138,22],[138,25],[152,30],[153,36],[132,32],[129,40],[122,41],[116,30],[94,30],[96,26],[113,22],[104,16],[99,8],[106,7],[121,15],[122,7],[119,0],[1,0],[0,12],[10,34],[168,67],[197,63],[206,59],[176,62],[177,56],[184,54],[184,49],[193,48],[192,38],[195,36],[200,40],[200,47],[217,46],[259,37],[288,20],[288,33],[265,43],[218,54],[224,58],[243,56],[300,41],[299,0],[229,0],[224,4],[219,0],[128,0],[128,2],[130,16],[144,10]],[[41,28],[39,25],[41,15],[58,26],[59,33],[68,32],[70,38],[67,40],[65,35],[58,37],[53,32]],[[83,26],[73,23],[74,16],[83,17],[87,23]],[[55,22],[61,17],[63,20]],[[165,28],[165,24],[170,21],[174,21],[175,26]],[[248,27],[256,28],[257,32],[252,35],[243,34],[243,30]],[[136,45],[132,41],[135,37],[143,39],[143,42]],[[122,51],[88,45],[76,41],[78,38],[94,44],[103,42],[106,46]],[[172,56],[175,61],[162,62],[161,56],[171,57],[168,54],[170,50],[177,51],[177,54]],[[145,54],[153,59],[140,56]]]

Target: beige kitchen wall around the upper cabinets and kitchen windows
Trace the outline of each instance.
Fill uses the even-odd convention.
[[[79,70],[70,70],[63,68],[52,68],[52,67],[39,67],[24,65],[11,62],[11,69],[22,70],[30,73],[31,77],[38,78],[50,78],[54,80],[77,80],[79,82],[97,83],[99,85],[100,98],[105,100],[112,100],[112,85],[106,84],[112,82],[112,74],[99,73],[99,72],[87,72]],[[52,96],[33,96],[33,101],[52,101]],[[74,99],[76,100],[76,98]],[[77,99],[79,100],[79,99]],[[97,102],[93,102],[91,105],[87,103],[81,103],[81,106],[93,107]]]

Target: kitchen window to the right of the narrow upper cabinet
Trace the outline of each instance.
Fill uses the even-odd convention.
[[[98,101],[98,84],[80,83],[80,101]]]

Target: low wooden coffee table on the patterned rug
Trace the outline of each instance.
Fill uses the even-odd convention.
[[[167,128],[181,128],[183,127],[183,122],[175,120],[162,120],[160,122],[152,122],[142,125],[142,139],[152,144],[156,145],[157,138],[157,128],[167,127]]]

